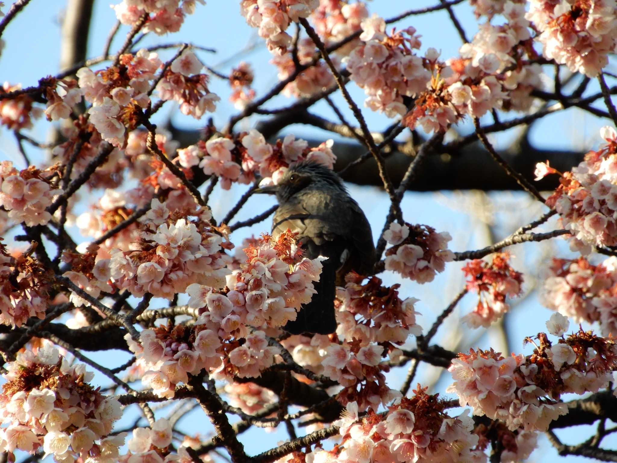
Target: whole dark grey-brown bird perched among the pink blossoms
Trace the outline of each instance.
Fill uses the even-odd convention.
[[[345,275],[352,270],[369,275],[376,260],[364,212],[349,196],[342,178],[315,161],[291,165],[276,185],[257,188],[255,193],[276,195],[279,206],[272,221],[273,236],[289,228],[298,233],[305,257],[328,257],[315,282],[317,293],[284,329],[294,335],[334,333],[336,286],[344,286]]]

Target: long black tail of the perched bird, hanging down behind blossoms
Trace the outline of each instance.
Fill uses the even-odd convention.
[[[335,259],[323,261],[323,269],[318,282],[315,282],[316,294],[309,304],[302,306],[296,320],[287,322],[285,330],[292,335],[316,333],[329,335],[336,331],[334,316],[334,298],[336,297],[336,269],[339,262]]]

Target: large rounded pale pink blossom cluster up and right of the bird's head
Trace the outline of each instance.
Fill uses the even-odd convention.
[[[362,30],[364,43],[345,59],[350,78],[368,95],[365,106],[387,117],[404,115],[407,107],[402,97],[426,90],[436,51],[430,49],[426,58],[417,56],[413,49],[421,43],[415,28],[387,35],[386,22],[375,14],[362,21]]]

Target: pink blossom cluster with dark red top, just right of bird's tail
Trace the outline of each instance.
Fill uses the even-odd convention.
[[[418,299],[400,299],[400,285],[382,286],[377,277],[365,284],[363,280],[357,273],[349,273],[345,288],[337,292],[338,336],[366,345],[404,344],[409,335],[421,335],[422,328],[416,323],[418,312],[413,307]]]

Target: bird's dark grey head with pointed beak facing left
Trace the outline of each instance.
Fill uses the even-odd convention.
[[[305,188],[336,188],[343,194],[347,193],[337,173],[314,161],[302,161],[289,167],[276,185],[257,188],[254,193],[276,194],[276,199],[281,203]]]

